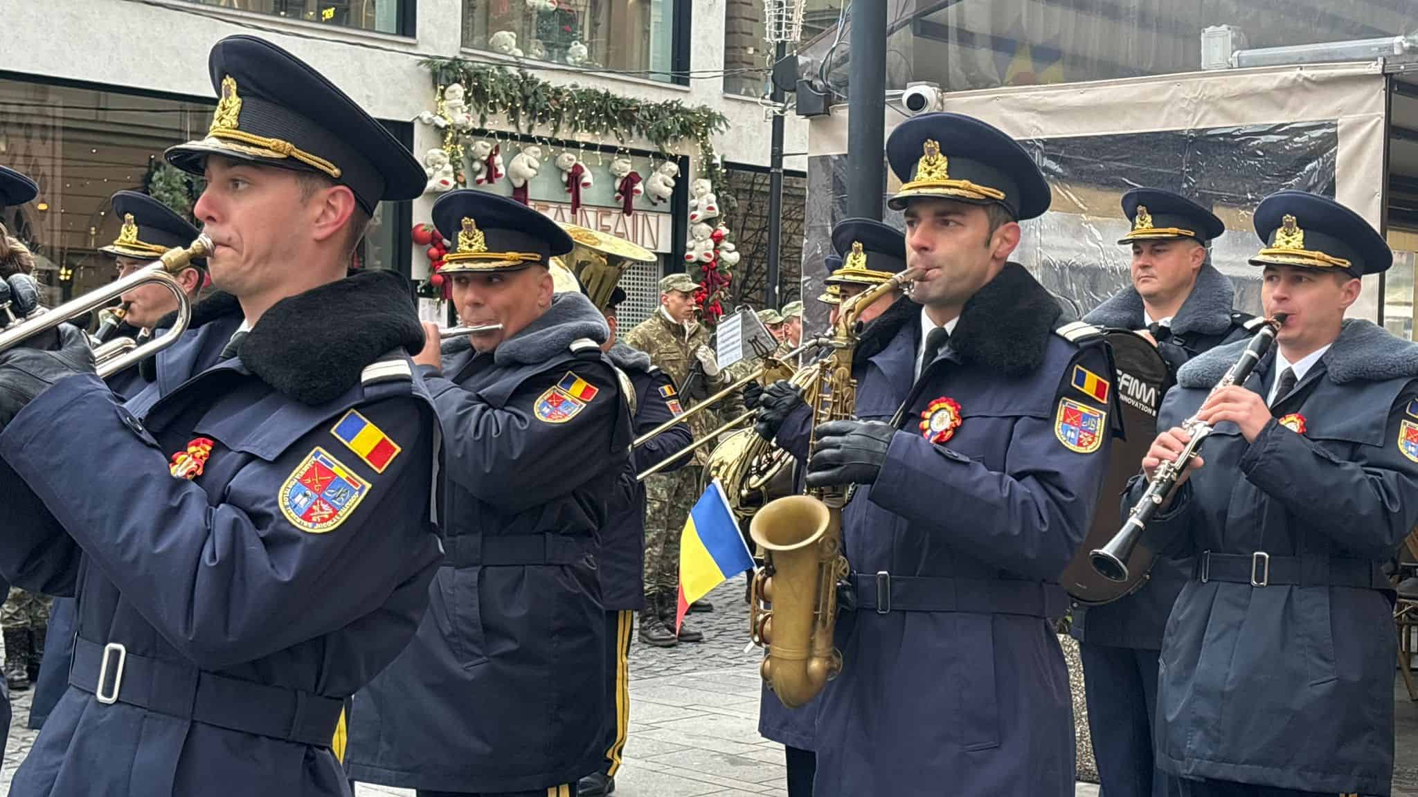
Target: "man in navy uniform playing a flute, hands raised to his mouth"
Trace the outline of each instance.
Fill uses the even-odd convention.
[[[627,464],[630,413],[605,319],[554,294],[571,238],[529,207],[458,190],[434,203],[457,250],[462,323],[417,362],[438,407],[447,557],[398,659],[350,710],[353,780],[420,794],[574,794],[605,754],[597,533]]]

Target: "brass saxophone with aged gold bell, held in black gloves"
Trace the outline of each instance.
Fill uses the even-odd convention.
[[[814,397],[814,427],[852,418],[856,411],[852,353],[861,333],[858,318],[872,302],[899,291],[915,277],[913,269],[906,269],[842,303],[832,326],[831,353],[815,363],[815,390],[808,389]],[[810,458],[815,445],[814,433]],[[763,679],[790,709],[817,696],[842,669],[842,654],[832,647],[832,627],[837,624],[837,583],[849,572],[842,556],[842,506],[848,495],[847,485],[810,488],[804,495],[770,501],[749,523],[749,536],[764,560],[750,587],[749,634],[754,644],[767,648]]]

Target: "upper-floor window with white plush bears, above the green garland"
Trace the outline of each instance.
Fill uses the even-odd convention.
[[[674,79],[675,14],[681,1],[464,0],[462,45],[683,82]]]

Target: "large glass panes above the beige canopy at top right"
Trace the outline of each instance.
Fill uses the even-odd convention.
[[[1235,48],[1340,43],[1414,33],[1411,0],[939,0],[888,17],[888,88],[930,81],[946,91],[1079,82],[1202,68],[1202,30],[1234,28]],[[848,41],[825,31],[807,57],[828,60],[847,92]],[[834,47],[835,43],[835,47]],[[828,55],[831,52],[831,55]],[[1343,58],[1340,58],[1343,60]]]

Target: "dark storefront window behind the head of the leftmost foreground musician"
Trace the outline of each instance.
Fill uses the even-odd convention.
[[[109,197],[128,189],[191,216],[200,182],[167,166],[163,150],[200,138],[211,104],[0,79],[0,163],[40,184],[40,196],[0,211],[0,223],[35,254],[50,305],[92,291],[116,275],[98,251],[118,237]],[[407,140],[410,125],[390,123]],[[376,208],[360,248],[364,268],[407,272],[408,203]]]

